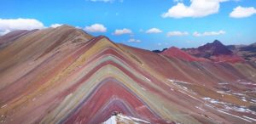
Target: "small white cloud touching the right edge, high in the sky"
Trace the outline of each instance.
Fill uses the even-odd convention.
[[[233,9],[233,11],[230,13],[230,17],[232,18],[245,18],[252,16],[253,14],[256,14],[256,9],[253,7],[249,8],[243,8],[241,6],[238,6]]]

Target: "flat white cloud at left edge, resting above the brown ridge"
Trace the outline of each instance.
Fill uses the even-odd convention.
[[[15,30],[43,29],[44,24],[35,19],[0,19],[0,36]]]

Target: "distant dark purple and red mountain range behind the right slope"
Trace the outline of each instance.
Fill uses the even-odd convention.
[[[155,53],[166,56],[177,57],[189,61],[212,62],[243,62],[246,60],[256,60],[256,43],[251,45],[229,45],[225,46],[222,42],[215,40],[198,48],[165,48],[162,51],[154,50]],[[190,56],[189,56],[190,55]]]

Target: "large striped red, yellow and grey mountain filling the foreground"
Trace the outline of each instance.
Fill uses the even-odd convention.
[[[255,123],[255,116],[253,61],[186,61],[69,25],[0,37],[1,123]]]

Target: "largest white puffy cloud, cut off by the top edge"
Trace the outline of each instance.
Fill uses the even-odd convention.
[[[163,18],[184,18],[184,17],[203,17],[209,14],[218,13],[219,4],[229,0],[190,0],[190,5],[177,3],[169,8],[168,12],[162,14]]]

